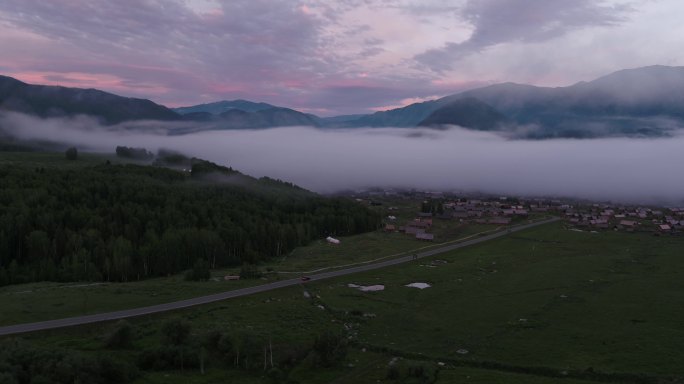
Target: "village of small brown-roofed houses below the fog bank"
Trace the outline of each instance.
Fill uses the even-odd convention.
[[[385,232],[398,232],[416,240],[434,241],[435,221],[505,227],[549,215],[561,217],[576,231],[650,232],[654,235],[684,233],[684,208],[653,207],[609,202],[493,196],[455,196],[441,192],[362,192],[358,201],[382,208]],[[387,201],[422,201],[419,210],[399,215]],[[399,204],[397,204],[399,205]],[[415,206],[415,204],[414,204]]]

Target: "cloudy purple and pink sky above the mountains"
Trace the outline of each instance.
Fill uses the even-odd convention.
[[[680,0],[2,0],[0,74],[320,116],[684,65]]]

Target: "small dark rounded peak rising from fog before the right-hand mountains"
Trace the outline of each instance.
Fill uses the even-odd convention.
[[[418,125],[458,125],[479,131],[493,131],[502,128],[506,121],[506,116],[489,104],[466,97],[437,108]]]

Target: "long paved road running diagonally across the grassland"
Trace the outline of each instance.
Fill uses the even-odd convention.
[[[522,231],[522,230],[525,230],[528,228],[532,228],[532,227],[536,227],[538,225],[551,223],[551,222],[554,222],[557,220],[559,220],[559,218],[552,218],[552,219],[539,221],[539,222],[535,222],[535,223],[518,225],[515,227],[511,227],[510,230],[508,230],[508,231],[497,232],[497,233],[493,233],[491,235],[477,237],[477,238],[474,238],[472,240],[467,240],[467,241],[464,241],[461,243],[456,243],[456,244],[448,245],[445,247],[421,252],[421,253],[418,253],[417,256],[418,256],[418,258],[434,256],[434,255],[437,255],[440,253],[453,251],[455,249],[467,247],[470,245],[483,243],[485,241],[489,241],[489,240],[493,240],[493,239],[505,236],[509,233]],[[378,262],[378,263],[374,263],[374,264],[367,264],[367,265],[353,267],[353,268],[340,269],[340,270],[332,271],[332,272],[318,273],[315,275],[310,275],[309,277],[311,278],[310,281],[323,280],[323,279],[329,279],[331,277],[344,276],[344,275],[349,275],[352,273],[370,271],[373,269],[389,267],[391,265],[402,264],[402,263],[406,263],[406,262],[409,262],[412,260],[413,260],[413,256],[405,256],[405,257],[400,257],[400,258],[396,258],[396,259],[382,261],[382,262]],[[97,323],[97,322],[101,322],[101,321],[118,320],[118,319],[123,319],[123,318],[127,318],[127,317],[142,316],[142,315],[149,315],[149,314],[159,313],[159,312],[173,311],[176,309],[192,307],[195,305],[201,305],[201,304],[213,303],[216,301],[221,301],[221,300],[226,300],[226,299],[232,299],[234,297],[253,295],[253,294],[259,293],[259,292],[271,291],[273,289],[289,287],[289,286],[297,285],[297,284],[302,284],[302,281],[300,279],[281,280],[281,281],[277,281],[274,283],[257,285],[255,287],[242,288],[242,289],[237,289],[234,291],[222,292],[222,293],[217,293],[217,294],[213,294],[213,295],[209,295],[209,296],[201,296],[201,297],[196,297],[193,299],[174,301],[172,303],[152,305],[149,307],[126,309],[123,311],[99,313],[99,314],[87,315],[87,316],[68,317],[68,318],[64,318],[64,319],[41,321],[41,322],[37,322],[37,323],[25,323],[25,324],[10,325],[10,326],[6,326],[6,327],[0,327],[0,336],[25,333],[25,332],[43,331],[43,330],[54,329],[54,328],[71,327],[71,326],[75,326],[75,325],[91,324],[91,323]]]

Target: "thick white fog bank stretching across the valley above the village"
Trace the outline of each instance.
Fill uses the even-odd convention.
[[[149,123],[149,127],[160,124]],[[113,152],[117,145],[167,148],[329,193],[365,187],[479,191],[636,202],[684,202],[684,135],[658,139],[507,140],[459,128],[307,127],[207,131],[168,136],[98,127],[88,118],[5,114],[22,139],[70,142]],[[128,129],[128,130],[127,130]]]

